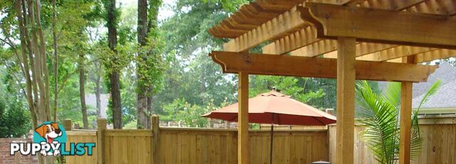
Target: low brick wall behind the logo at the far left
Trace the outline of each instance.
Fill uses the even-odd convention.
[[[0,138],[0,164],[6,163],[38,163],[38,158],[32,155],[9,155],[9,143],[31,142],[30,138]]]

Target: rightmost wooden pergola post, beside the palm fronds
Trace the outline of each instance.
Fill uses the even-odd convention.
[[[414,56],[404,57],[403,62],[414,63]],[[412,82],[402,82],[400,86],[400,139],[399,163],[410,163],[410,133],[412,126]]]

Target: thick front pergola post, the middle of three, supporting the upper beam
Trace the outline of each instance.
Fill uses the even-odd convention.
[[[336,163],[353,163],[355,128],[355,38],[338,38]]]

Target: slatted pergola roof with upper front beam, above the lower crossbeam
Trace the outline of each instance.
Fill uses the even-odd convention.
[[[357,38],[356,59],[414,62],[456,56],[454,0],[257,0],[209,29],[224,51],[336,58],[337,36]],[[348,19],[346,19],[348,18]]]

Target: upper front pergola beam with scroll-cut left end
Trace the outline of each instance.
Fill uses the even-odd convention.
[[[314,24],[318,38],[456,48],[453,17],[310,2],[298,9],[304,20]]]

